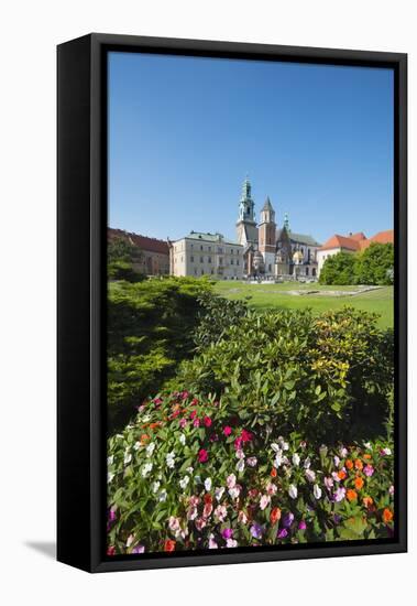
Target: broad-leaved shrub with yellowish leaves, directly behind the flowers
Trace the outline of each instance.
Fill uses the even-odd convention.
[[[242,421],[338,440],[381,431],[393,382],[393,335],[353,309],[249,313],[194,359],[171,388],[222,398]],[[359,432],[359,433],[358,433]]]

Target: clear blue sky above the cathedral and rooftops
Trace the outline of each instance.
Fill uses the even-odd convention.
[[[255,210],[326,241],[393,227],[393,72],[110,53],[109,225],[234,238]]]

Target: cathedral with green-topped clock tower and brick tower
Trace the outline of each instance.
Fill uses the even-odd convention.
[[[246,177],[237,221],[238,242],[243,247],[244,277],[316,280],[317,250],[321,245],[311,236],[293,232],[287,214],[279,228],[268,197],[257,223],[251,190]]]

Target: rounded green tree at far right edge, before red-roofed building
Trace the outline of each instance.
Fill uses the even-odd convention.
[[[373,242],[356,256],[355,274],[359,284],[393,284],[394,246]]]

